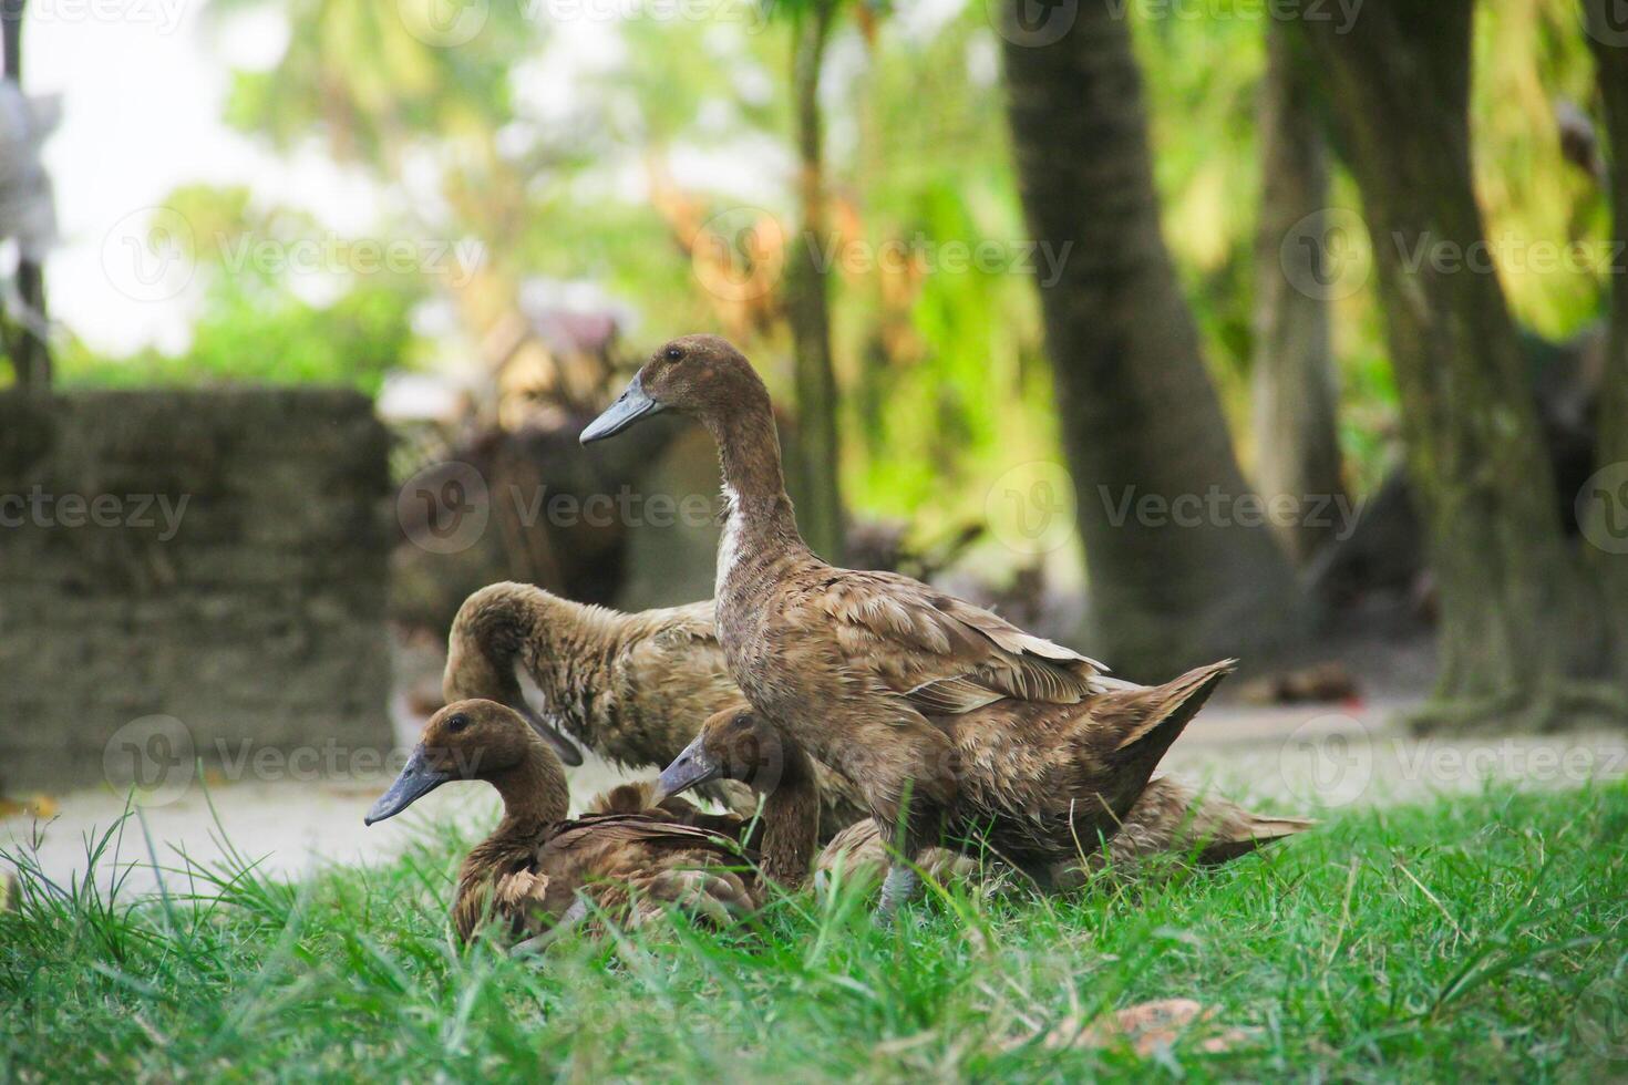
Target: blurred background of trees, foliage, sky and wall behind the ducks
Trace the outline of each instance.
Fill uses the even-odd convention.
[[[1623,719],[1610,0],[5,7],[0,787],[387,742],[492,581],[705,599],[710,441],[576,444],[697,330],[834,560],[1293,726]]]

